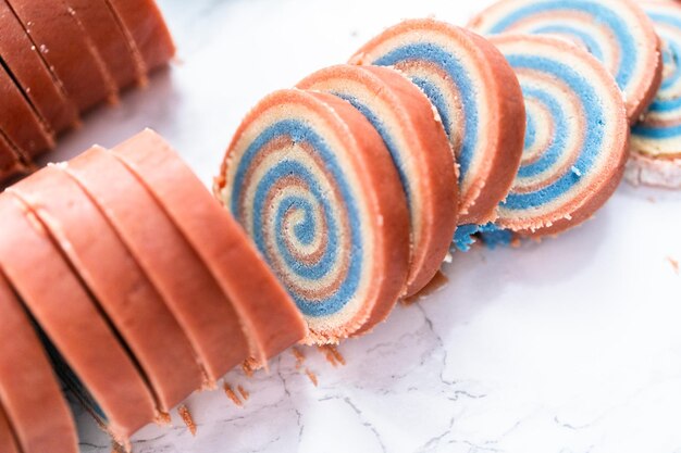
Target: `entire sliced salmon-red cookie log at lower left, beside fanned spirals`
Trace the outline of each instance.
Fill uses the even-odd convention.
[[[24,453],[77,451],[58,379],[125,445],[307,334],[243,230],[150,130],[12,186],[0,218],[0,441]]]

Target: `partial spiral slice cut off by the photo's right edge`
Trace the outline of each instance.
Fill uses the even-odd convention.
[[[632,149],[656,159],[681,158],[681,7],[644,3],[663,40],[663,84],[645,118],[632,128]]]

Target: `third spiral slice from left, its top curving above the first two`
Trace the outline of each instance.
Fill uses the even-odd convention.
[[[406,21],[351,63],[394,66],[435,105],[459,164],[460,224],[485,224],[510,189],[524,133],[512,70],[483,38],[433,20]]]

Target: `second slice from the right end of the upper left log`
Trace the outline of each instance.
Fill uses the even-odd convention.
[[[89,35],[119,90],[139,79],[133,52],[107,0],[65,0]]]

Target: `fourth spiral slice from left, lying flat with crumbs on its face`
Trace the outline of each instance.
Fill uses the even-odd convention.
[[[550,37],[492,39],[523,90],[528,135],[497,226],[554,235],[587,219],[618,186],[628,156],[626,108],[612,76],[587,52]]]

